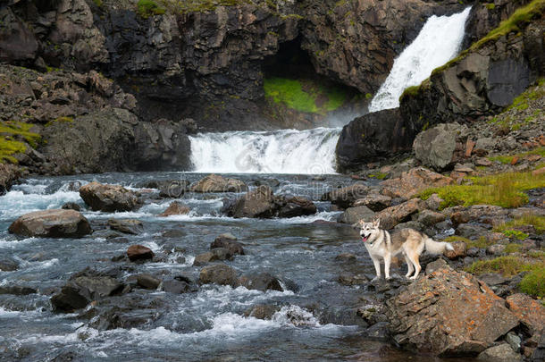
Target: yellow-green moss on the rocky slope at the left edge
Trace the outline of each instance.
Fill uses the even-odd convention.
[[[41,139],[38,133],[30,132],[32,124],[23,122],[0,122],[0,163],[5,161],[13,164],[17,159],[15,154],[26,151],[28,143],[31,147],[37,147]]]

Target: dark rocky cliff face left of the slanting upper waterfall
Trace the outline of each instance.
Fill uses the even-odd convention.
[[[455,0],[159,0],[146,11],[137,3],[0,5],[0,62],[20,66],[2,68],[0,116],[18,129],[6,137],[21,142],[4,160],[38,173],[180,170],[189,167],[189,129],[325,125],[323,114],[267,106],[266,72],[302,54],[311,76],[373,93],[425,18],[463,7]],[[282,46],[292,56],[280,55]],[[195,125],[183,121],[189,117]]]

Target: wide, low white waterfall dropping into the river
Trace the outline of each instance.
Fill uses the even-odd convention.
[[[190,137],[199,173],[335,173],[340,129],[231,131]]]

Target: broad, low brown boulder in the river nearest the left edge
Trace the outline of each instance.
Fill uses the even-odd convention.
[[[22,215],[8,230],[25,237],[41,238],[80,238],[93,232],[85,216],[75,210],[62,209]]]

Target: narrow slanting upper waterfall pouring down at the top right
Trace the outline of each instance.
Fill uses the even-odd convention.
[[[399,106],[399,97],[411,86],[419,85],[432,71],[454,58],[465,34],[465,21],[471,7],[451,16],[433,15],[418,37],[396,58],[390,75],[373,97],[369,112]]]

